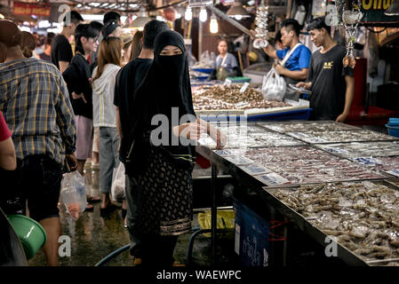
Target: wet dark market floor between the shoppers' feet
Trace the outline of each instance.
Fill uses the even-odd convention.
[[[87,190],[93,196],[99,196],[99,170],[88,169],[86,172]],[[62,202],[60,203],[60,221],[62,235],[70,238],[70,256],[60,257],[61,266],[93,266],[105,256],[129,243],[129,234],[123,226],[121,209],[110,212],[108,216],[100,216],[100,202],[94,203],[93,211],[85,211],[78,220],[68,215]],[[196,214],[193,217],[193,229],[198,228]],[[185,264],[187,259],[190,234],[181,235],[175,248],[174,258],[177,263]],[[62,242],[60,244],[65,244]],[[199,236],[196,238],[193,259],[196,264],[209,265],[210,239]],[[66,252],[66,250],[63,250]],[[130,266],[134,259],[128,250],[111,259],[108,266]],[[43,250],[29,260],[29,265],[46,265]]]

